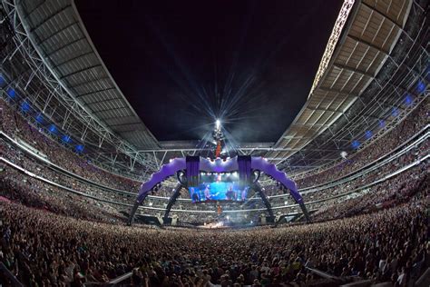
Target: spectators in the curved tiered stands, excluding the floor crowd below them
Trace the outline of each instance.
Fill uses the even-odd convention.
[[[54,183],[59,183],[65,187],[72,188],[75,191],[92,195],[97,199],[112,201],[115,203],[125,203],[128,205],[103,203],[98,200],[96,201],[93,199],[84,198],[82,196],[79,197],[74,194],[70,194],[67,191],[61,190],[58,187],[29,178],[28,175],[25,175],[24,173],[19,173],[15,171],[15,169],[5,166],[4,172],[2,173],[2,177],[4,178],[3,185],[5,186],[6,183],[8,184],[8,186],[13,185],[15,186],[14,188],[15,190],[17,190],[17,187],[22,188],[23,192],[21,192],[20,194],[28,193],[27,184],[32,183],[32,185],[30,186],[37,186],[39,193],[41,195],[46,196],[45,193],[47,193],[49,198],[51,198],[51,202],[45,203],[45,205],[57,206],[56,210],[64,210],[65,208],[67,208],[67,205],[69,205],[69,202],[71,202],[70,206],[73,206],[73,204],[76,204],[76,203],[82,203],[83,205],[88,204],[89,206],[83,206],[81,208],[82,211],[92,211],[93,206],[95,206],[95,207],[100,207],[100,208],[103,207],[105,209],[108,209],[109,212],[118,213],[118,211],[128,212],[131,208],[131,205],[133,204],[133,200],[135,197],[134,194],[116,193],[110,190],[103,190],[98,186],[93,186],[91,184],[81,182],[79,180],[76,180],[76,178],[73,178],[64,173],[55,172],[51,168],[46,167],[44,164],[34,161],[34,158],[27,155],[26,153],[22,153],[17,147],[13,146],[12,144],[5,143],[5,141],[3,140],[0,141],[0,143],[1,143],[0,149],[2,151],[2,154],[4,154],[5,158],[7,158],[9,161],[13,163],[16,163],[17,165],[23,167],[24,169],[30,172],[38,174],[50,181],[54,181]],[[428,150],[428,145],[429,145],[428,141],[425,141],[421,145],[416,146],[415,149],[412,149],[408,153],[405,153],[402,156],[396,158],[395,161],[386,163],[382,167],[378,168],[377,173],[375,172],[370,172],[369,174],[365,173],[363,176],[358,177],[355,180],[348,181],[347,183],[337,184],[336,186],[331,188],[318,190],[318,192],[303,194],[304,200],[308,205],[308,210],[315,210],[315,209],[322,210],[321,207],[323,206],[325,210],[332,208],[332,206],[335,206],[336,208],[338,208],[336,206],[338,203],[342,203],[346,199],[349,199],[351,196],[354,196],[354,194],[342,196],[340,198],[337,198],[337,200],[328,200],[328,199],[338,194],[350,193],[352,190],[359,189],[360,187],[365,186],[367,183],[372,183],[375,180],[384,177],[386,174],[393,173],[394,171],[400,169],[401,167],[406,166],[406,164],[414,162],[417,158],[420,158],[421,156],[424,155],[424,153]],[[425,168],[421,170],[415,169],[414,173],[406,173],[408,174],[406,175],[406,178],[411,174],[415,174],[417,178],[421,178],[422,174],[420,173],[424,173],[424,174],[426,173],[426,163],[423,163],[422,165],[425,166]],[[386,183],[389,184],[390,182],[386,182]],[[53,190],[55,191],[55,193],[52,192]],[[373,190],[374,189],[372,189],[372,191]],[[390,189],[390,190],[394,191],[395,189]],[[279,193],[279,187],[277,187],[276,185],[266,186],[264,192],[267,195],[271,196],[273,194]],[[169,197],[171,193],[172,193],[171,188],[168,185],[163,185],[161,187],[161,190],[159,190],[156,193],[156,195],[157,196],[164,195],[165,197]],[[180,198],[185,197],[190,199],[188,191],[183,189],[181,193],[182,193],[182,196],[180,196]],[[30,193],[30,194],[34,195],[34,193]],[[67,195],[67,196],[64,196],[64,195]],[[57,198],[55,200],[52,200],[53,196],[56,196]],[[75,198],[77,198],[78,200],[75,201],[74,200]],[[291,200],[289,196],[271,198],[269,201],[272,207],[294,204],[294,202]],[[322,202],[312,203],[315,201],[322,201]],[[47,202],[47,201],[43,201],[43,202]],[[264,204],[262,203],[261,200],[249,202],[247,206],[239,206],[239,205],[241,205],[241,203],[238,203],[238,204],[221,203],[221,208],[222,208],[222,211],[228,211],[231,209],[235,210],[240,208],[242,209],[263,208],[264,209]],[[143,210],[142,212],[143,214],[163,216],[164,214],[163,209],[167,206],[167,201],[164,198],[160,199],[160,198],[150,196],[145,201],[144,206],[146,206],[146,208]],[[153,208],[158,208],[158,209],[153,209]],[[54,207],[51,207],[51,209],[54,210]],[[181,213],[181,212],[175,212],[174,210],[189,210],[189,211],[195,211],[195,213]],[[212,211],[212,213],[200,213],[200,211]],[[281,211],[279,211],[279,213],[283,213],[283,214],[300,213],[300,212],[301,211],[298,206],[290,206],[288,208],[284,208]],[[100,213],[99,210],[95,212],[95,214],[99,214],[99,213]],[[261,212],[256,212],[256,213],[261,213]],[[193,204],[190,201],[188,202],[178,201],[177,203],[175,203],[175,205],[173,205],[173,211],[171,212],[171,216],[174,214],[176,214],[180,223],[193,223],[193,224],[210,223],[211,221],[216,221],[218,218],[217,203]],[[254,215],[249,215],[249,220],[245,222],[249,222],[250,219],[253,218],[254,222],[257,223],[259,221],[259,218],[258,218],[259,215],[258,214],[256,216]],[[91,216],[89,218],[91,218]]]

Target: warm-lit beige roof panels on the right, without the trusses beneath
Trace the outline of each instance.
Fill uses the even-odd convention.
[[[345,1],[308,101],[276,147],[301,149],[346,113],[388,60],[412,1],[363,0],[353,4],[354,0]],[[352,21],[342,34],[348,17]],[[269,156],[288,158],[292,153]]]

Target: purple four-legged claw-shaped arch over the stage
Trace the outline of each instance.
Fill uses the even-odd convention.
[[[286,173],[280,172],[275,164],[269,163],[265,158],[245,155],[236,156],[231,159],[217,158],[215,160],[202,158],[200,156],[187,156],[172,159],[170,163],[162,165],[159,172],[153,173],[149,181],[142,183],[136,201],[132,207],[128,224],[131,225],[133,223],[134,214],[147,195],[152,191],[157,191],[161,182],[168,177],[176,175],[178,184],[173,190],[171,199],[166,207],[164,213],[164,220],[166,220],[169,217],[171,206],[176,202],[181,189],[189,186],[196,186],[200,181],[200,173],[239,173],[239,184],[242,187],[249,186],[255,193],[258,193],[263,203],[266,205],[269,217],[274,218],[269,200],[259,185],[259,174],[265,173],[267,176],[280,183],[285,189],[288,189],[291,196],[300,206],[306,220],[309,221],[308,211],[302,196],[298,193],[296,183],[290,180]]]

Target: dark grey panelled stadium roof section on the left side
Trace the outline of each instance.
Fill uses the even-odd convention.
[[[103,64],[73,1],[22,1],[21,8],[34,47],[69,94],[124,140],[157,147]]]

